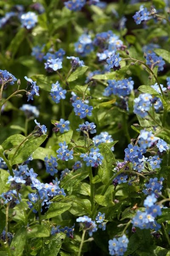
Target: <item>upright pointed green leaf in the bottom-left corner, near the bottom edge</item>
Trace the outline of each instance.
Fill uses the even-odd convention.
[[[11,256],[22,256],[26,244],[26,228],[20,228],[11,241]]]

